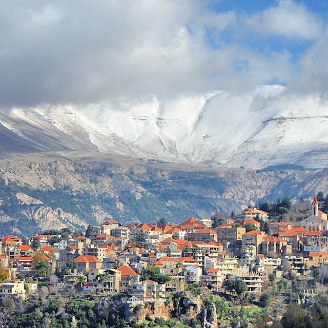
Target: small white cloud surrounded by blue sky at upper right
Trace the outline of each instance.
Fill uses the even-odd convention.
[[[288,38],[314,39],[322,31],[321,19],[292,0],[280,0],[277,6],[254,13],[245,25],[257,33]]]

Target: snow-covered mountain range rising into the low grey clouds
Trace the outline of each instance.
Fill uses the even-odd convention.
[[[328,166],[328,101],[282,86],[161,104],[14,108],[0,116],[3,152],[101,151],[206,165]]]

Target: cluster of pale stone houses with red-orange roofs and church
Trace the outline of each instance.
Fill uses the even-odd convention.
[[[224,223],[213,229],[214,218]],[[260,230],[260,221],[269,223],[269,213],[249,208],[238,219],[216,213],[179,224],[122,226],[107,220],[89,227],[85,236],[52,244],[52,235],[34,235],[27,243],[4,236],[0,265],[10,277],[0,284],[0,298],[34,292],[37,284],[30,282],[26,289],[22,277],[39,279],[35,263],[40,260],[47,263],[48,274],[71,268],[61,277],[64,286],[76,285],[86,293],[126,293],[134,304],[164,301],[167,293],[184,291],[192,283],[227,292],[227,280],[236,278],[247,284],[248,292],[261,293],[270,274],[306,276],[328,265],[327,214],[319,211],[316,196],[311,216],[302,221],[270,222],[269,234]],[[147,268],[170,278],[146,279],[142,272]]]

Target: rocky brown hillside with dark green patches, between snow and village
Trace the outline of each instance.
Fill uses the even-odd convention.
[[[262,199],[310,198],[328,187],[326,170],[227,170],[134,160],[100,153],[70,158],[12,155],[0,160],[1,233],[84,229],[122,223],[229,215]]]

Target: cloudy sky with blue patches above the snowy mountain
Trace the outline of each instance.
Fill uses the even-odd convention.
[[[1,6],[2,108],[165,101],[261,84],[328,94],[328,0]]]

